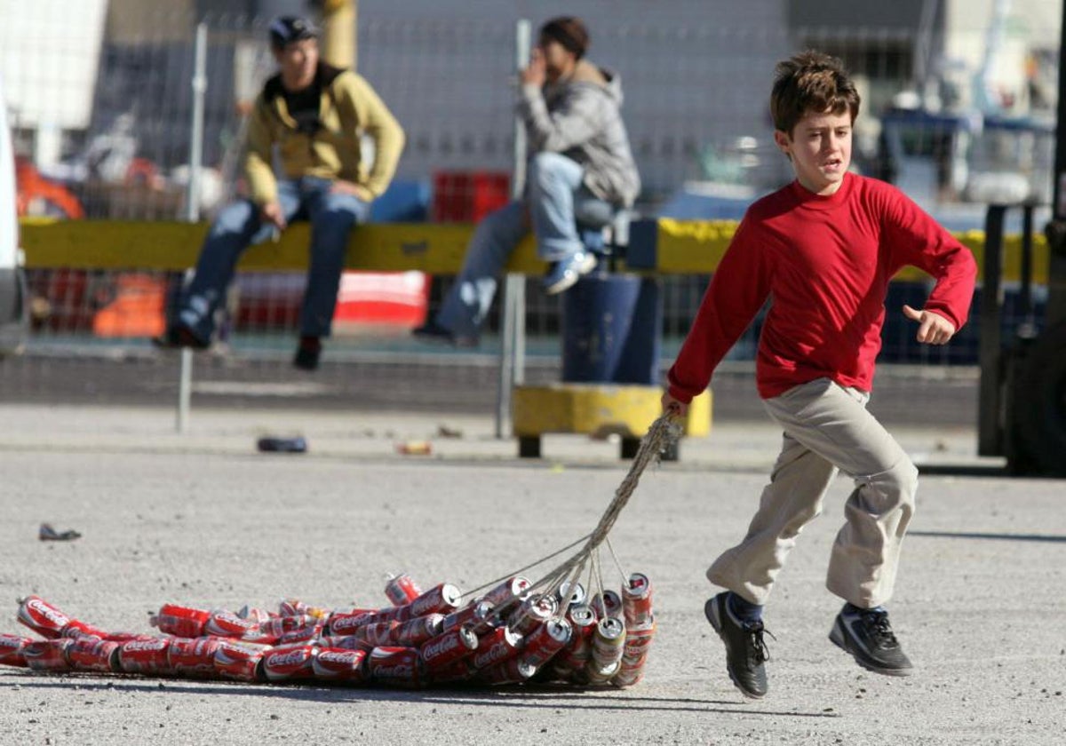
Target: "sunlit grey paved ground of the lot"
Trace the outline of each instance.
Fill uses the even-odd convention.
[[[486,418],[0,406],[5,520],[0,631],[15,598],[147,631],[164,601],[376,604],[387,571],[471,588],[588,532],[625,474],[617,444],[558,436],[515,459]],[[443,437],[441,425],[450,435]],[[305,455],[258,454],[302,433]],[[0,743],[1062,744],[1066,723],[1066,483],[1008,480],[968,429],[900,428],[925,464],[897,597],[909,679],[862,671],[827,639],[823,585],[847,492],[805,531],[768,610],[771,693],[732,688],[702,618],[706,565],[744,532],[778,435],[716,423],[649,470],[613,534],[656,585],[660,632],[628,691],[253,686],[0,669]],[[429,440],[433,455],[398,443]],[[948,470],[950,471],[950,470]],[[37,525],[75,528],[41,542]],[[535,574],[535,572],[533,573]],[[2,609],[0,609],[2,611]]]

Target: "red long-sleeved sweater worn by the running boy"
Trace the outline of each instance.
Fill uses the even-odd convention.
[[[936,279],[925,310],[962,328],[976,276],[973,256],[894,186],[846,174],[829,196],[793,181],[759,199],[671,368],[671,395],[690,402],[707,388],[768,296],[756,362],[760,396],[823,377],[870,391],[888,281],[906,264]]]

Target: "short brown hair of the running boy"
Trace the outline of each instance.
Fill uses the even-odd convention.
[[[774,128],[792,136],[792,129],[808,112],[843,114],[852,124],[859,115],[859,93],[835,56],[809,49],[777,63],[770,113]]]

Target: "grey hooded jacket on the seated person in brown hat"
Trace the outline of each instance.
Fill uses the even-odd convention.
[[[565,81],[523,85],[518,114],[533,152],[559,152],[585,168],[584,183],[601,199],[630,207],[641,191],[621,120],[621,80],[582,60]]]

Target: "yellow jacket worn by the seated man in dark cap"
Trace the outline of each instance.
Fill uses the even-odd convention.
[[[319,176],[353,181],[375,197],[389,185],[404,146],[400,124],[370,84],[351,70],[319,63],[316,83],[321,87],[319,127],[300,131],[286,107],[281,76],[263,85],[248,123],[244,164],[249,196],[257,205],[277,199],[273,151],[278,147],[285,178]],[[361,158],[360,135],[374,141],[374,162]]]

